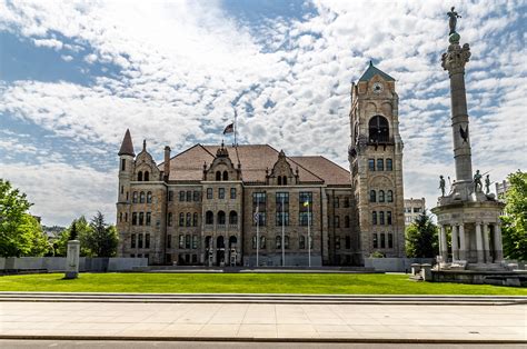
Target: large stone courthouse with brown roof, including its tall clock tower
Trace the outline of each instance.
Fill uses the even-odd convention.
[[[395,80],[371,63],[351,87],[348,171],[269,144],[196,144],[163,162],[119,158],[120,257],[151,265],[361,266],[404,257],[402,142]],[[309,235],[311,239],[309,239]],[[258,237],[258,238],[257,238]],[[309,241],[311,242],[309,245]]]

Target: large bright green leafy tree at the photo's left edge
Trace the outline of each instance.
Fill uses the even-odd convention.
[[[24,193],[0,179],[0,256],[42,256],[49,250],[42,227],[28,213],[31,206]]]

